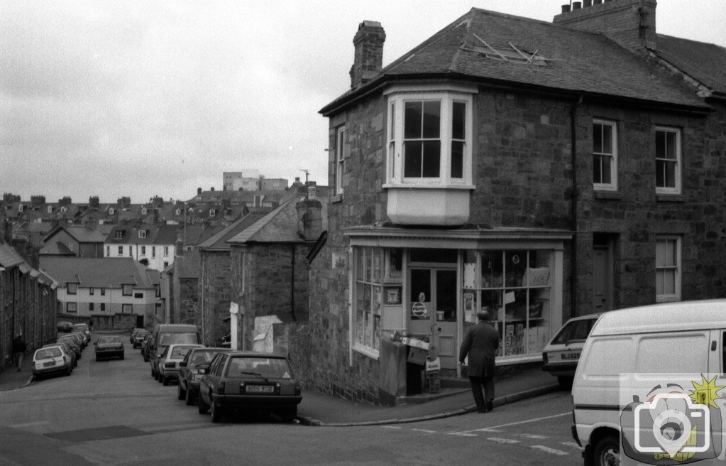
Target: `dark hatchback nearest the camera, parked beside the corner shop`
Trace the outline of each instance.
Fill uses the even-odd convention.
[[[211,411],[212,422],[239,410],[278,414],[285,422],[298,415],[300,382],[285,355],[218,353],[199,373],[199,412]]]

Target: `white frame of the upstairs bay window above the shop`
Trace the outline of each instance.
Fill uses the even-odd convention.
[[[432,86],[394,86],[384,95],[387,100],[386,126],[386,184],[383,188],[420,187],[420,188],[462,188],[473,189],[473,95],[476,86],[464,84],[440,84]],[[441,159],[439,177],[404,177],[404,120],[407,102],[441,102],[439,115],[439,140]],[[454,102],[465,103],[465,139],[463,153],[463,173],[461,178],[452,178],[452,115]]]

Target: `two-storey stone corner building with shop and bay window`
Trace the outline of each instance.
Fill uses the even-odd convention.
[[[650,0],[553,23],[474,8],[383,68],[385,39],[360,24],[351,88],[320,111],[319,390],[411,391],[388,377],[393,331],[462,377],[478,309],[507,365],[541,360],[570,316],[726,295],[725,49],[659,35]]]

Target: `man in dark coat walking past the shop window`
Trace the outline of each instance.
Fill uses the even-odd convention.
[[[499,332],[489,325],[489,313],[480,310],[476,313],[478,323],[471,327],[459,350],[459,363],[469,356],[467,374],[471,382],[476,409],[480,413],[494,409],[494,358],[499,349]],[[484,385],[484,394],[481,386]]]

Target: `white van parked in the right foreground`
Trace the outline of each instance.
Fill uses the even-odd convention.
[[[704,407],[697,398],[692,402],[689,397],[697,396],[690,393],[701,393],[697,384],[709,386],[707,374],[717,374],[711,380],[714,385],[726,386],[725,338],[726,300],[672,302],[600,316],[582,350],[572,387],[572,435],[584,446],[584,464],[619,465],[621,449],[628,461],[639,461],[637,464],[675,464],[672,455],[680,455],[676,461],[685,463],[696,461],[695,454],[724,458],[726,445],[720,429],[717,432],[708,425],[701,426],[706,435],[702,441],[703,435],[696,437],[698,426],[683,426],[701,422],[703,417],[706,422],[711,419],[711,427],[721,425],[722,400],[711,399]],[[686,374],[703,374],[705,378],[690,380]],[[726,390],[721,394],[726,397]],[[665,406],[661,411],[672,413],[665,404],[670,400],[685,406],[675,409],[678,413],[690,410],[674,425],[666,425],[655,407],[662,402],[657,404]],[[698,414],[711,405],[710,417]],[[690,417],[691,412],[694,417]],[[641,417],[643,414],[650,414],[650,420]],[[662,433],[669,426],[675,426],[669,437],[658,433],[658,428]],[[709,434],[713,436],[709,448],[714,451],[694,453],[705,451],[698,448],[709,443]],[[666,456],[672,458],[665,458],[664,463],[664,445],[669,438],[680,443],[677,448],[669,446]]]

